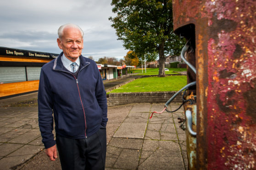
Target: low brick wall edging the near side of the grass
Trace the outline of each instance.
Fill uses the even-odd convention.
[[[166,103],[175,93],[176,91],[110,93],[107,104],[119,106],[131,103]],[[176,96],[172,102],[182,102],[182,94]]]

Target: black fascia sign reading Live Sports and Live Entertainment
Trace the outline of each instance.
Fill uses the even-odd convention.
[[[0,55],[29,58],[57,58],[59,54],[0,47]]]

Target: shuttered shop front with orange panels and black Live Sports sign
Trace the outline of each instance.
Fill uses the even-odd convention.
[[[41,67],[57,56],[0,47],[0,98],[37,91]]]

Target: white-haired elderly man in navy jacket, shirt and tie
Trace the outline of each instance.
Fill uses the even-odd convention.
[[[80,27],[63,25],[58,36],[63,52],[42,67],[39,81],[39,128],[45,153],[54,161],[57,145],[63,170],[103,170],[108,119],[100,72],[93,60],[81,55]]]

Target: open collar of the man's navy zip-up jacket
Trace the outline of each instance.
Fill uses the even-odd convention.
[[[55,58],[55,61],[54,61],[54,65],[53,65],[53,70],[66,70],[62,61],[61,61],[61,56],[62,56],[63,52],[61,52],[59,54],[59,56],[57,58]],[[90,63],[86,61],[86,58],[83,57],[82,55],[79,56],[80,58],[80,69],[82,69],[83,67],[89,65]]]

